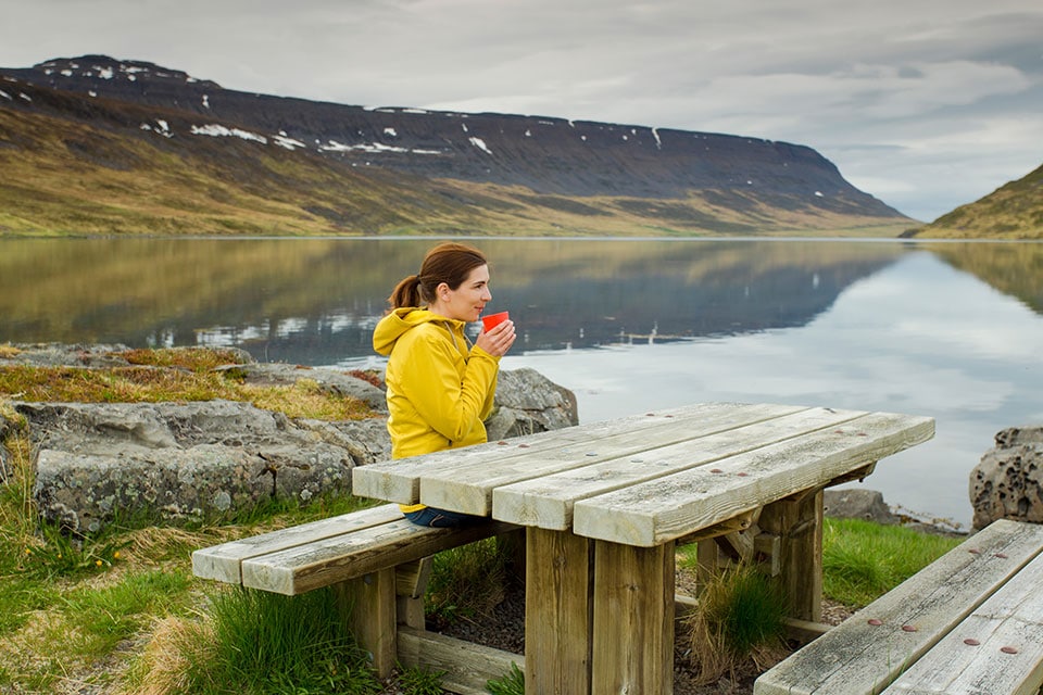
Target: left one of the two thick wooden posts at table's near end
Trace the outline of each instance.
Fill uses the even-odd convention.
[[[567,531],[526,530],[526,695],[590,693],[592,547]]]

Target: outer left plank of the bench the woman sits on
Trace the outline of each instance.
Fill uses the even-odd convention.
[[[319,519],[287,529],[229,541],[192,553],[192,573],[203,579],[215,579],[231,584],[242,583],[241,564],[257,555],[305,545],[351,531],[380,526],[402,518],[397,504],[385,504],[368,509]]]

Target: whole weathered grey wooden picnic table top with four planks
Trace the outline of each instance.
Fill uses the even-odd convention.
[[[922,416],[706,403],[357,467],[353,492],[651,547],[933,433]]]

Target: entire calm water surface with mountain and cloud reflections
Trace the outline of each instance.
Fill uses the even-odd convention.
[[[0,240],[0,342],[236,345],[379,366],[369,333],[430,240]],[[1043,244],[477,240],[503,367],[592,421],[701,401],[933,416],[865,486],[968,525],[996,431],[1043,422]]]

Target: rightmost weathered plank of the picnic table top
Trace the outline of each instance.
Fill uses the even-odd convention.
[[[933,418],[871,413],[740,454],[720,466],[702,466],[580,500],[573,508],[574,532],[628,545],[658,545],[796,492],[828,485],[933,434]]]

